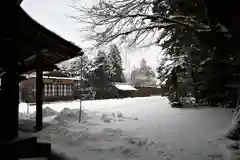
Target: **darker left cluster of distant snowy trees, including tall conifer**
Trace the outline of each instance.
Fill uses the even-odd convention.
[[[75,58],[69,67],[61,67],[61,72],[68,77],[80,79],[82,76],[91,87],[102,92],[106,92],[114,82],[125,82],[121,53],[115,44],[110,45],[107,52],[99,50],[93,59],[87,55]]]

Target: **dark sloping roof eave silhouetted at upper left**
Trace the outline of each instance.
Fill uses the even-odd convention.
[[[37,54],[43,55],[45,70],[55,69],[54,64],[83,54],[81,48],[37,23],[19,5],[14,6],[12,12],[15,16],[11,16],[8,23],[15,27],[6,27],[7,34],[0,39],[0,72],[35,70]]]

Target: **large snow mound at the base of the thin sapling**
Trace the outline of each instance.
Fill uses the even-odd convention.
[[[68,123],[68,122],[77,122],[79,116],[78,109],[69,109],[64,108],[59,114],[54,118],[54,120],[58,121],[59,123]],[[86,119],[87,113],[82,111],[82,120],[83,118]]]

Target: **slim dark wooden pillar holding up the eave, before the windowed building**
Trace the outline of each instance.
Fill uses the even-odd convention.
[[[43,105],[43,54],[37,54],[36,68],[36,130],[42,129],[42,105]]]

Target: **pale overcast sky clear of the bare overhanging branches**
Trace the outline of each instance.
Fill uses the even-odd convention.
[[[76,1],[76,0],[75,0]],[[93,0],[78,0],[80,5],[91,5]],[[74,42],[81,48],[89,46],[90,43],[84,41],[81,32],[77,31],[83,24],[79,24],[75,20],[68,18],[69,15],[74,15],[76,12],[69,6],[73,0],[24,0],[22,7],[36,21],[46,28],[57,33],[61,37]],[[157,66],[157,56],[161,49],[159,47],[151,47],[136,51],[130,51],[126,48],[120,48],[123,54],[127,54],[124,58],[128,59],[129,63],[124,63],[127,68],[139,66],[142,58],[145,58],[148,65],[154,69]]]

